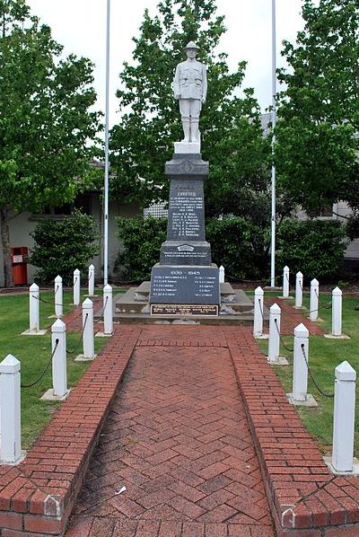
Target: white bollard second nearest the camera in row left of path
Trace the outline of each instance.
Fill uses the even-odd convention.
[[[67,393],[66,370],[66,324],[57,319],[51,327],[52,357],[52,385],[53,395],[62,398]]]

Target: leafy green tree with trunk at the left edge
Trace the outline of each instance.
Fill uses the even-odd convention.
[[[92,64],[62,47],[25,0],[0,0],[0,225],[12,283],[11,213],[62,206],[84,189],[99,130]]]

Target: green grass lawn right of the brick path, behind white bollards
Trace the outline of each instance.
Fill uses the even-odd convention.
[[[267,294],[269,295],[269,294]],[[320,294],[319,317],[323,321],[320,326],[326,333],[331,332],[331,309],[325,306],[330,303],[330,294]],[[334,392],[335,373],[334,370],[344,360],[347,360],[355,371],[359,371],[359,311],[355,305],[358,304],[356,298],[343,298],[343,325],[342,333],[350,336],[351,339],[326,339],[323,336],[310,336],[309,364],[311,372],[320,385],[323,392]],[[293,301],[291,301],[293,304]],[[278,303],[280,305],[280,301]],[[304,295],[303,305],[309,307],[309,295]],[[307,316],[305,310],[303,315]],[[304,321],[305,324],[305,321]],[[293,336],[282,338],[285,347],[293,348]],[[258,344],[264,354],[267,355],[267,340],[258,340]],[[281,380],[285,392],[292,392],[293,384],[293,353],[281,346],[281,356],[288,358],[289,366],[273,366],[276,374]],[[358,382],[359,383],[359,378]],[[296,407],[308,430],[316,437],[322,453],[330,453],[333,435],[333,404],[334,400],[324,397],[318,392],[316,387],[308,379],[308,392],[311,393],[318,402],[318,408]],[[356,397],[356,422],[355,422],[355,455],[359,456],[359,398]]]

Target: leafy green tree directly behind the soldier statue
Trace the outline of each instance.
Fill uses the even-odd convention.
[[[178,103],[171,82],[183,48],[195,40],[198,59],[208,68],[207,101],[201,112],[203,158],[210,161],[206,215],[267,217],[257,209],[267,192],[269,145],[262,136],[258,102],[251,89],[239,97],[245,62],[229,72],[226,54],[216,54],[225,31],[214,0],[162,0],[153,18],[144,12],[134,39],[133,65],[125,64],[117,95],[123,115],[111,131],[112,193],[144,207],[168,199],[164,163],[182,138]]]

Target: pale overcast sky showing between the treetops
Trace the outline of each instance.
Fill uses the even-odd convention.
[[[95,64],[97,109],[105,109],[105,56],[107,0],[27,0],[31,13],[51,27],[64,45],[64,54],[89,57]],[[111,0],[109,125],[118,122],[118,74],[124,61],[131,62],[132,38],[139,35],[144,9],[156,13],[158,0]],[[225,15],[227,32],[218,51],[228,53],[230,69],[248,62],[243,87],[253,87],[262,111],[272,100],[272,0],[216,0],[217,14]],[[295,41],[302,29],[302,0],[276,0],[277,66],[283,40]],[[172,74],[170,75],[172,76]]]

